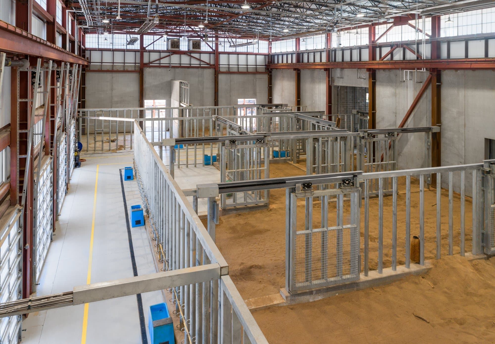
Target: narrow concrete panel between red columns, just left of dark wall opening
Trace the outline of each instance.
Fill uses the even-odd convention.
[[[301,105],[306,111],[325,110],[326,73],[320,69],[301,69]]]

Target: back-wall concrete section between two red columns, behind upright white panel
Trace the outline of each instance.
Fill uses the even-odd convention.
[[[167,99],[167,106],[169,106],[170,80],[183,80],[189,82],[191,104],[213,106],[215,103],[215,71],[213,69],[145,68],[144,77],[145,99]]]

